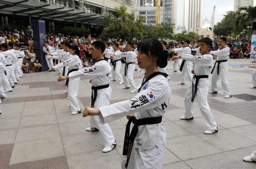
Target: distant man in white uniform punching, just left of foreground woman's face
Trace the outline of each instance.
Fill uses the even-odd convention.
[[[132,42],[127,42],[126,48],[127,52],[122,52],[122,53],[115,53],[113,56],[121,56],[121,57],[126,57],[126,64],[124,67],[124,76],[122,77],[124,80],[124,87],[123,89],[128,89],[131,88],[132,90],[130,93],[135,93],[136,92],[136,85],[134,82],[134,64],[133,62],[136,61],[136,53],[132,50]]]

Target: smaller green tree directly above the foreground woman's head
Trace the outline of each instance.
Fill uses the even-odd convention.
[[[161,38],[162,39],[172,39],[173,38],[173,24],[158,24],[150,25],[145,30],[146,38]]]

